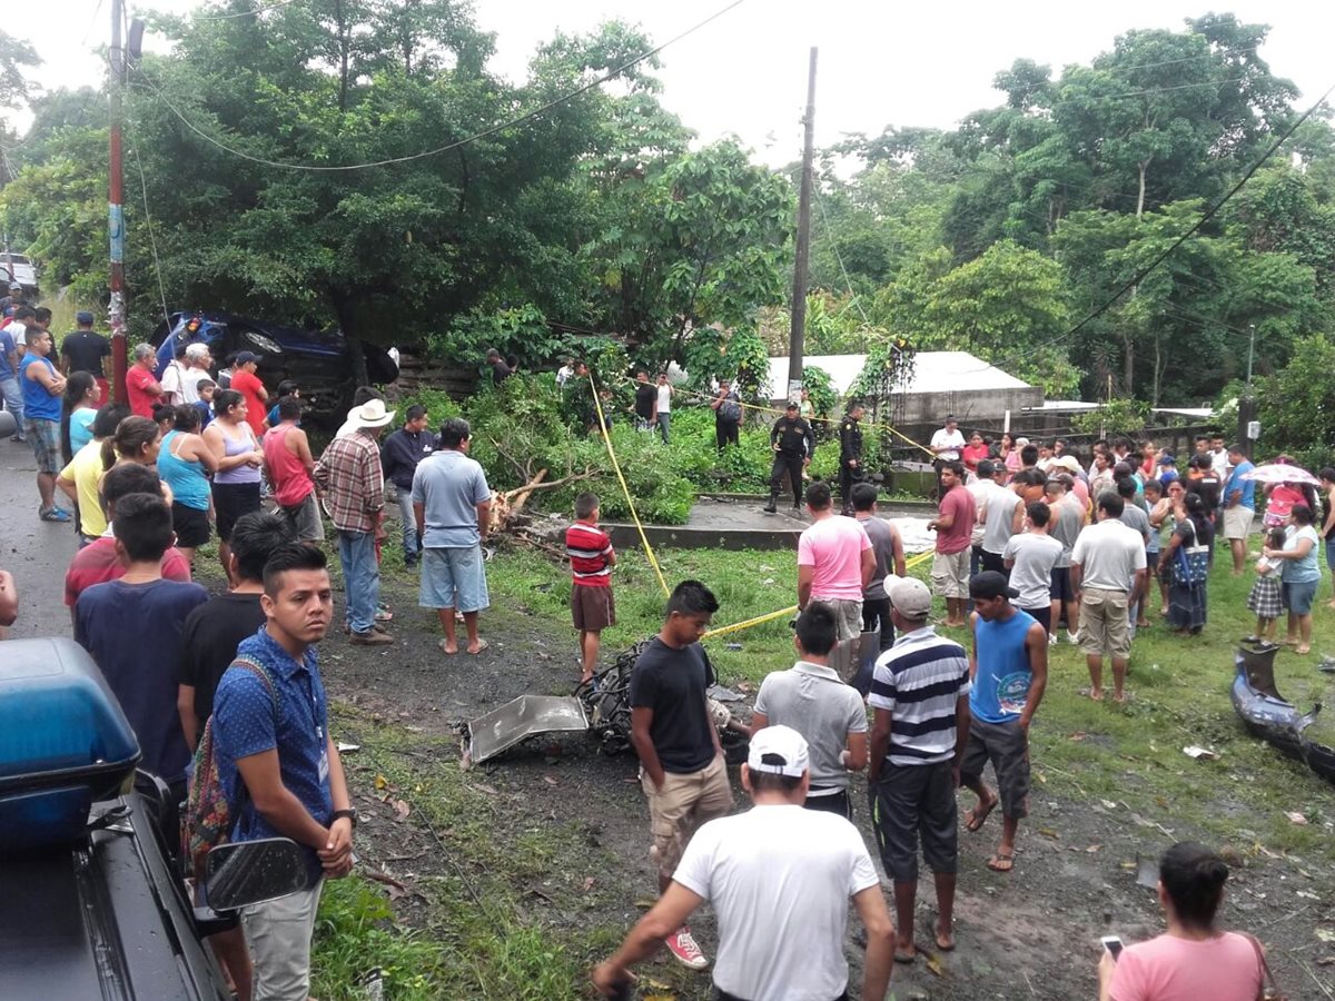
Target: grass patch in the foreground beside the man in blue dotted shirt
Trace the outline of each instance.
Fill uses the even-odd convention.
[[[411,924],[395,916],[384,886],[366,876],[326,884],[314,993],[354,1001],[379,970],[386,998],[579,996],[586,970],[619,941],[622,929],[598,928],[586,918],[553,929],[525,906],[526,894],[541,882],[553,906],[582,908],[583,866],[561,864],[573,844],[583,845],[577,825],[543,817],[502,822],[498,810],[510,807],[466,778],[451,741],[382,725],[350,706],[335,706],[334,714],[339,734],[362,745],[344,759],[354,797],[410,803],[405,829],[415,831],[433,861],[423,865],[430,876],[409,884],[421,902]],[[392,823],[376,815],[382,829]],[[583,846],[581,852],[598,854]],[[362,868],[384,865],[398,874],[414,868],[375,857],[364,858]]]

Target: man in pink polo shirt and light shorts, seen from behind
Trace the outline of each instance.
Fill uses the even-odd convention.
[[[828,483],[806,487],[812,527],[797,541],[797,607],[826,602],[838,621],[838,639],[862,631],[862,591],[876,573],[876,553],[862,526],[834,514]]]

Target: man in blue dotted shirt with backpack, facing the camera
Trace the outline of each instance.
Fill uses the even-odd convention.
[[[214,699],[219,781],[240,802],[232,841],[287,837],[307,850],[306,890],[242,910],[255,1001],[306,1001],[324,878],[352,870],[350,806],[314,645],[334,615],[324,553],[280,546],[264,565],[266,625],[242,641]]]

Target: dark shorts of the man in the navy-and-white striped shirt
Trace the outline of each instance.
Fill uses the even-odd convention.
[[[868,793],[881,862],[894,882],[917,882],[917,848],[933,873],[959,869],[959,823],[952,761],[881,767]]]

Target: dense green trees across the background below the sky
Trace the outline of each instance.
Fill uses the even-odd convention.
[[[558,33],[519,84],[489,72],[493,39],[454,0],[226,0],[150,31],[175,47],[127,96],[142,323],[160,276],[172,306],[463,363],[489,346],[527,370],[597,356],[605,379],[674,360],[696,388],[726,375],[761,395],[764,355],[786,343],[793,171],[692,144],[651,59],[545,107],[649,49],[637,29]],[[1017,60],[995,76],[1001,101],[955,129],[821,151],[808,350],[869,352],[862,390],[897,352],[960,348],[1053,396],[1152,404],[1220,395],[1254,327],[1256,374],[1284,368],[1335,310],[1327,112],[1140,274],[1296,120],[1267,32],[1206,15],[1057,75]],[[0,191],[7,230],[89,296],[104,96],[35,96],[40,53],[0,43],[0,105],[33,112]],[[602,352],[609,335],[623,354]]]

